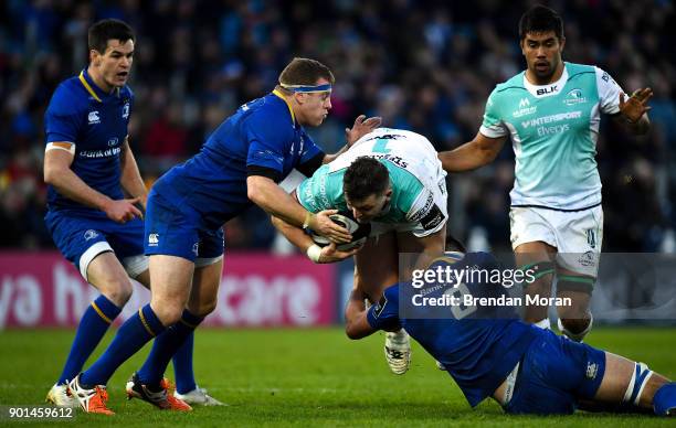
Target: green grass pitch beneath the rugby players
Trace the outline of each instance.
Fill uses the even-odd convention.
[[[72,331],[0,332],[0,405],[40,405],[72,340]],[[106,343],[112,334],[106,336]],[[676,378],[676,329],[596,328],[590,344],[644,361]],[[648,416],[578,413],[569,417],[506,416],[492,400],[471,409],[447,374],[414,344],[413,364],[404,376],[389,373],[383,335],[349,341],[339,329],[202,330],[196,336],[198,382],[228,407],[197,408],[190,414],[157,411],[127,402],[124,384],[146,351],[113,376],[106,418],[77,411],[61,425],[98,426],[658,426]],[[99,346],[103,349],[103,346]],[[0,420],[0,425],[7,424]],[[54,425],[54,421],[21,426]],[[673,425],[673,421],[670,424]]]

